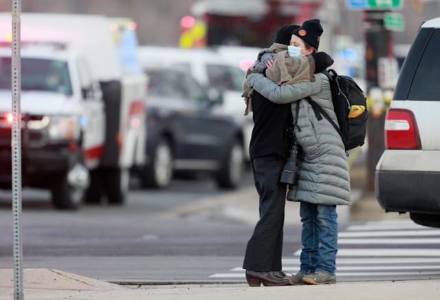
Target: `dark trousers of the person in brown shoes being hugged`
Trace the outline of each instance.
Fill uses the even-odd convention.
[[[248,242],[243,268],[259,272],[281,270],[286,185],[279,183],[285,159],[265,155],[252,160],[260,196],[260,220]]]

